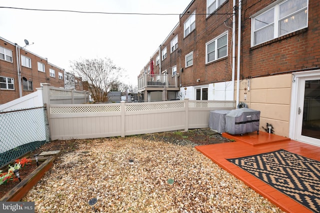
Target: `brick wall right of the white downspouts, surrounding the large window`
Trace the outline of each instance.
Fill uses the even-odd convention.
[[[250,47],[250,16],[273,1],[243,1],[242,78],[320,66],[320,22],[318,22],[320,10],[317,0],[309,0],[307,28]]]

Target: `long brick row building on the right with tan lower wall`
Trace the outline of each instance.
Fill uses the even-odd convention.
[[[150,56],[155,73],[175,73],[177,98],[245,102],[261,111],[261,131],[271,123],[277,135],[320,145],[319,2],[233,3],[192,0]]]

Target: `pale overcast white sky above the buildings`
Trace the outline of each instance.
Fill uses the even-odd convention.
[[[125,70],[122,82],[137,76],[179,21],[191,0],[0,0],[0,7],[75,10],[96,14],[0,8],[0,37],[70,72],[72,61],[110,58]],[[32,44],[33,43],[33,44]]]

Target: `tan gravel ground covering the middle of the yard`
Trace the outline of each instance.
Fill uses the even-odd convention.
[[[35,202],[35,212],[282,212],[188,140],[132,136],[68,144],[72,151],[62,152],[22,200]],[[89,206],[92,198],[97,202]]]

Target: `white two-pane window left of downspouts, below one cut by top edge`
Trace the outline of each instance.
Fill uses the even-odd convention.
[[[224,32],[205,44],[205,63],[227,56],[228,34]]]

